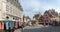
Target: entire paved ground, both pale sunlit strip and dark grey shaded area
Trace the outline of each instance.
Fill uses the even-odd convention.
[[[26,27],[25,29],[18,29],[14,32],[60,32],[60,26],[45,26],[41,28],[29,28]]]

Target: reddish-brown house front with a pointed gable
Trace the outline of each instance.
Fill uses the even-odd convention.
[[[45,11],[44,15],[42,15],[39,19],[39,24],[49,25],[50,21],[51,20],[50,20],[49,13],[47,11]]]

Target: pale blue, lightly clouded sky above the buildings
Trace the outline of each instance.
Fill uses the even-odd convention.
[[[55,9],[60,12],[60,0],[19,0],[23,14],[32,18],[34,14],[43,14],[45,10]]]

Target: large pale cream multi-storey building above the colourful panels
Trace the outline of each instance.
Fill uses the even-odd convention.
[[[21,20],[23,9],[18,0],[0,0],[0,19]]]

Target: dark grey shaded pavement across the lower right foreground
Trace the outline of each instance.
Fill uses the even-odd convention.
[[[23,32],[60,32],[60,27],[44,27],[35,29],[24,29]]]

